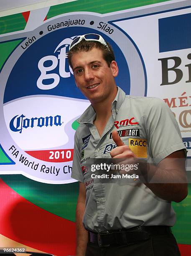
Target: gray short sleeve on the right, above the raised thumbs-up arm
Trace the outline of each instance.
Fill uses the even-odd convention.
[[[143,118],[150,154],[155,164],[174,151],[186,148],[178,123],[163,100],[151,98]]]

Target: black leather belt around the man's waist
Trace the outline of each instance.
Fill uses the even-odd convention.
[[[124,245],[147,240],[150,236],[171,233],[168,226],[139,226],[129,229],[102,231],[94,233],[89,231],[89,241],[97,243],[100,247],[110,245]]]

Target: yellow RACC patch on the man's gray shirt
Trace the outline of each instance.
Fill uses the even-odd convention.
[[[129,138],[130,150],[139,158],[147,158],[147,140]]]

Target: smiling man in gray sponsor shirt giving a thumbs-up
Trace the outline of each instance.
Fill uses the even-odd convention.
[[[76,256],[180,255],[169,227],[175,223],[171,201],[187,195],[185,147],[171,110],[157,98],[125,96],[115,84],[118,67],[112,48],[101,36],[77,37],[68,58],[76,86],[91,102],[74,139]],[[149,172],[160,183],[95,182],[87,160],[104,157],[153,159]],[[176,177],[182,183],[165,183]]]

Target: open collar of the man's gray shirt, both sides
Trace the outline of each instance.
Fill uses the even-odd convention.
[[[115,110],[116,113],[118,113],[122,103],[125,100],[125,92],[117,86],[117,95],[115,96],[115,99],[112,102],[112,110]],[[85,123],[92,123],[95,120],[96,113],[92,105],[90,105],[84,113],[81,115],[80,118],[77,119],[77,122],[80,124],[85,124]]]

